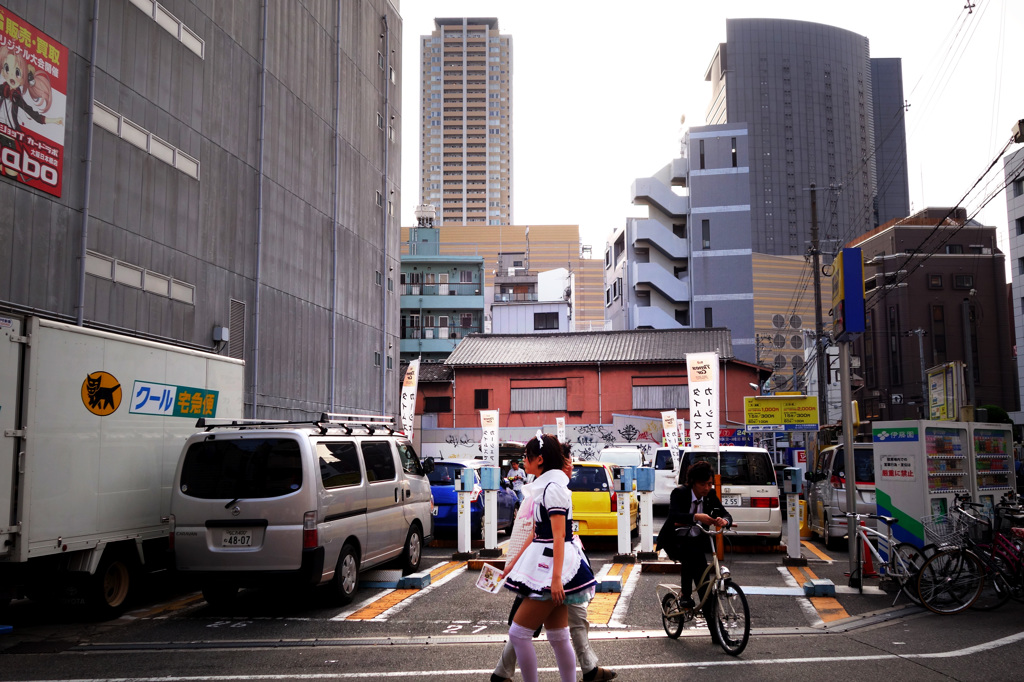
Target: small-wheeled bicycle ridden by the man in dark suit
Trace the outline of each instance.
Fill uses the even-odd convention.
[[[738,656],[751,639],[751,610],[743,591],[732,581],[729,569],[719,562],[715,551],[715,536],[724,534],[725,529],[709,530],[699,524],[694,527],[700,528],[711,542],[711,563],[697,581],[696,592],[700,600],[693,607],[682,606],[679,603],[682,589],[678,585],[658,585],[662,625],[669,637],[677,639],[683,632],[683,625],[692,621],[707,603],[712,640],[729,655]]]

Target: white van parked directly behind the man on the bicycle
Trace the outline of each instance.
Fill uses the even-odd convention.
[[[719,469],[719,457],[721,469]],[[764,447],[722,445],[719,456],[687,447],[679,465],[678,482],[693,462],[707,460],[722,475],[719,497],[729,510],[738,536],[763,538],[777,545],[782,538],[782,510],[778,501],[778,482],[771,456]]]

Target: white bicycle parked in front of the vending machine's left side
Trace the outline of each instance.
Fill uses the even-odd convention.
[[[916,590],[918,571],[921,570],[925,560],[935,550],[934,545],[926,545],[924,548],[916,548],[910,543],[896,542],[893,537],[893,526],[899,523],[899,519],[892,516],[881,516],[879,514],[855,514],[846,513],[847,527],[855,527],[857,530],[857,567],[850,576],[850,584],[856,585],[861,592],[864,591],[864,557],[863,548],[867,548],[870,555],[878,562],[880,583],[891,582],[898,586],[893,604],[899,599],[901,594],[914,604],[921,604],[921,598]],[[882,521],[886,526],[886,531],[882,532],[877,528],[861,525],[861,519],[876,519]],[[882,558],[882,553],[876,549],[874,543],[885,542],[885,547],[889,554],[888,559]],[[855,582],[856,581],[856,582]]]

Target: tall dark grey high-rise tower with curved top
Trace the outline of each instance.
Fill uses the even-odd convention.
[[[836,27],[726,22],[705,75],[707,123],[750,131],[754,251],[807,251],[812,182],[825,241],[846,243],[909,213],[902,71],[898,60],[872,61],[867,38]]]

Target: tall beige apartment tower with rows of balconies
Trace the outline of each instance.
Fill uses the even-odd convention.
[[[512,37],[435,18],[420,56],[420,203],[437,226],[512,224]]]

